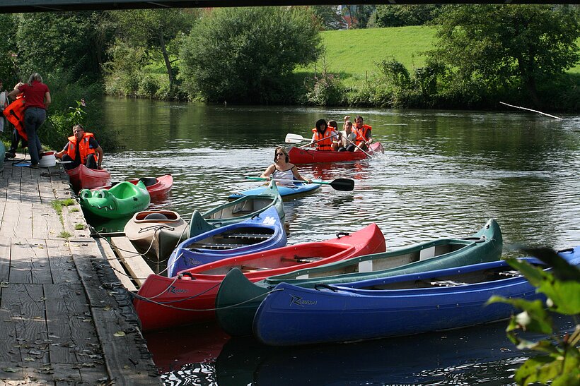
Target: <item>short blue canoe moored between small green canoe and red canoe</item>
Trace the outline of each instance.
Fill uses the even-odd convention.
[[[167,263],[167,276],[223,258],[286,246],[286,232],[276,207],[251,219],[215,228],[180,243]]]

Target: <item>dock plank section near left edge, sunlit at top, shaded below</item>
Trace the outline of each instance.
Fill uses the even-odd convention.
[[[44,240],[12,239],[9,282],[52,283]]]

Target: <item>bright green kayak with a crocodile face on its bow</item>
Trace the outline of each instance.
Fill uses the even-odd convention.
[[[92,215],[117,219],[140,212],[149,206],[151,198],[142,181],[137,185],[124,181],[106,190],[79,192],[81,207]]]

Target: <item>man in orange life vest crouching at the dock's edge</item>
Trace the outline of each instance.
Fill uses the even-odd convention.
[[[103,169],[101,167],[103,149],[95,140],[93,133],[85,132],[83,125],[73,126],[73,135],[69,137],[69,143],[54,156],[68,162],[64,164],[64,169],[74,169],[80,164],[88,169]]]

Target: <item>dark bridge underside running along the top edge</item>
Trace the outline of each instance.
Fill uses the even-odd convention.
[[[356,0],[355,4],[574,4],[576,0]],[[327,5],[332,0],[1,0],[0,13],[92,11],[98,9],[207,8],[231,6]]]

